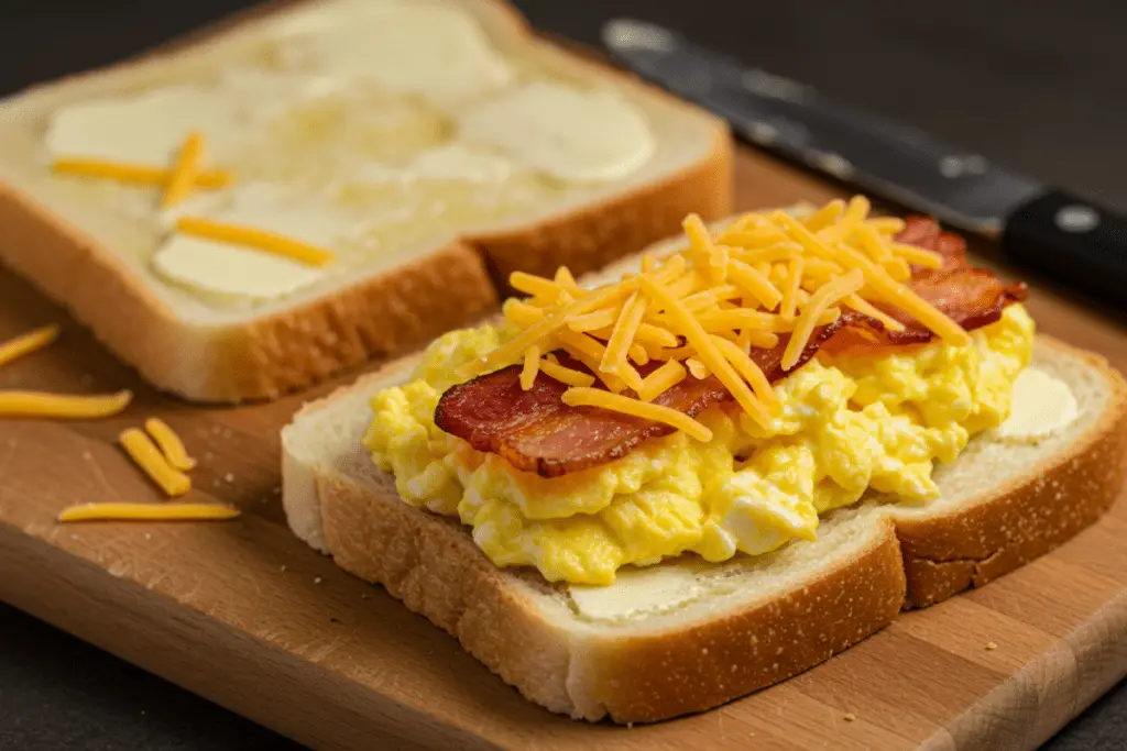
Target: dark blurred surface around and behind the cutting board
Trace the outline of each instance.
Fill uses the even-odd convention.
[[[119,60],[249,0],[0,0],[0,96]],[[516,0],[595,43],[632,15],[1127,213],[1127,2]],[[1127,638],[1127,635],[1121,635]],[[296,749],[0,605],[0,750]],[[373,740],[373,748],[383,748]],[[1120,685],[1047,751],[1127,748]]]

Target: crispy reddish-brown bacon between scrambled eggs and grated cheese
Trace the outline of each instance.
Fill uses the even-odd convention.
[[[943,257],[938,269],[913,268],[911,287],[967,330],[993,323],[1006,305],[1027,297],[1023,284],[1008,286],[990,271],[969,266],[962,239],[941,232],[933,220],[908,217],[897,241]],[[815,330],[798,365],[823,347],[834,354],[859,348],[873,351],[932,339],[931,331],[903,311],[880,307],[904,323],[904,331],[887,331],[879,321],[848,311],[834,323]],[[788,341],[789,337],[783,334],[773,349],[752,350],[752,359],[772,383],[787,375],[781,360]],[[557,352],[557,357],[566,367],[589,373],[564,352]],[[659,365],[650,363],[639,368],[639,373],[646,376]],[[644,440],[675,431],[664,423],[610,410],[568,406],[561,399],[568,386],[542,372],[532,388],[524,391],[520,374],[521,366],[514,365],[451,387],[438,401],[435,424],[480,452],[502,456],[517,470],[544,477],[613,462]],[[698,381],[690,376],[654,403],[695,417],[713,404],[729,401],[731,394],[716,377]]]

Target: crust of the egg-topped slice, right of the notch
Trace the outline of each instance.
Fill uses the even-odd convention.
[[[1108,361],[1051,337],[1039,345],[1099,370],[1111,384],[1111,408],[1066,452],[1014,477],[990,503],[943,516],[897,518],[907,573],[905,608],[941,602],[1048,553],[1107,511],[1127,471],[1127,384]]]

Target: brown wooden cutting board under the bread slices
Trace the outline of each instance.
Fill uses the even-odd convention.
[[[836,194],[749,152],[737,182],[743,208]],[[1042,330],[1127,369],[1127,334],[1109,318],[1041,290],[1030,307]],[[110,420],[0,421],[0,598],[314,748],[1032,749],[1127,672],[1120,500],[1053,554],[782,685],[657,725],[571,722],[290,535],[278,429],[302,397],[210,410],[157,394],[0,272],[0,339],[52,321],[62,340],[0,370],[0,388],[137,396]],[[115,446],[151,414],[201,459],[196,499],[242,518],[56,525],[74,502],[157,498]]]

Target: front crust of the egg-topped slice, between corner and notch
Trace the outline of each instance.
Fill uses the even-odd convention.
[[[600,640],[577,655],[585,708],[618,723],[655,722],[719,706],[825,662],[896,618],[904,569],[893,524],[817,581],[674,633]],[[587,717],[588,719],[591,716]]]

